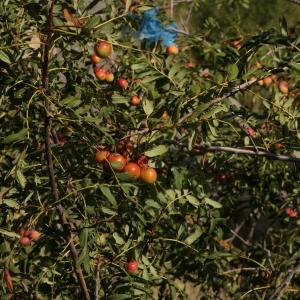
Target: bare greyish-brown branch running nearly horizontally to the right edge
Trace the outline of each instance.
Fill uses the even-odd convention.
[[[172,140],[165,140],[164,143],[176,145],[178,147],[186,147],[185,144],[177,142],[177,141],[172,141]],[[210,146],[210,145],[205,145],[205,144],[195,144],[194,150],[202,150],[202,151],[207,151],[207,152],[229,152],[229,153],[242,154],[242,155],[263,156],[263,157],[270,157],[270,158],[280,160],[280,161],[300,163],[300,158],[298,158],[298,157],[275,154],[275,153],[267,152],[267,151],[256,152],[256,151],[242,149],[242,148]]]

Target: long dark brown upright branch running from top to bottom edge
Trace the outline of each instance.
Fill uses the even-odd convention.
[[[51,49],[51,38],[52,38],[52,32],[53,32],[54,4],[55,4],[55,0],[52,0],[49,10],[48,10],[48,28],[47,28],[48,32],[47,32],[47,39],[46,39],[46,43],[45,43],[44,55],[43,55],[43,60],[42,60],[42,87],[43,87],[44,93],[47,92],[48,81],[49,81],[49,74],[48,74],[49,73],[49,52]],[[53,155],[52,155],[52,150],[51,150],[51,145],[50,145],[52,117],[49,114],[49,111],[50,111],[49,109],[50,109],[49,101],[47,100],[47,97],[45,97],[45,100],[44,100],[45,150],[46,150],[47,165],[48,165],[48,171],[49,171],[49,179],[50,179],[52,196],[53,196],[55,202],[58,202],[59,201],[59,193],[58,193],[56,178],[54,175],[55,172],[54,172],[54,164],[53,164]],[[77,253],[76,247],[73,242],[72,234],[70,232],[70,224],[64,214],[64,207],[61,204],[57,204],[56,210],[59,214],[62,224],[64,225],[63,226],[64,231],[67,236],[69,248],[71,251],[71,256],[72,256],[73,263],[74,263],[75,274],[80,283],[80,288],[82,291],[83,299],[90,300],[89,291],[87,289],[87,285],[86,285],[86,282],[85,282],[85,279],[83,276],[82,269],[81,269],[81,267],[76,266],[78,253]]]

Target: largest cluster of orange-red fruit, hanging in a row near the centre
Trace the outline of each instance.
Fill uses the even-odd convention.
[[[111,153],[106,148],[100,147],[96,150],[96,161],[103,163],[106,170],[121,172],[121,178],[128,180],[140,179],[146,183],[154,183],[157,179],[157,172],[148,166],[148,159],[140,156],[136,162],[131,162],[129,155],[122,155],[118,152]]]

